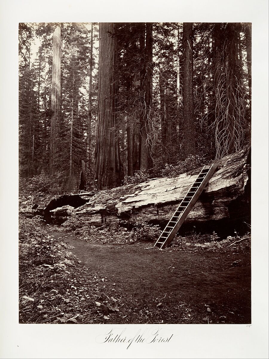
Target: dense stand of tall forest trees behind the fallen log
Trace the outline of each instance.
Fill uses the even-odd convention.
[[[20,190],[175,176],[250,142],[250,23],[20,23]]]

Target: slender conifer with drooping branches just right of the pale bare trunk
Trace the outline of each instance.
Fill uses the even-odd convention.
[[[88,67],[87,34],[83,25],[63,26],[62,111],[59,151],[61,186],[66,191],[86,185],[88,96],[81,93]],[[88,101],[87,101],[88,102]],[[82,172],[82,174],[81,174]]]

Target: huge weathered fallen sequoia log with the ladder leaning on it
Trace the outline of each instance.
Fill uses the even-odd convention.
[[[216,172],[190,211],[185,220],[187,224],[250,218],[250,147],[216,163]],[[173,178],[157,178],[97,192],[72,212],[69,221],[76,222],[79,227],[110,224],[117,220],[165,223],[200,169]]]

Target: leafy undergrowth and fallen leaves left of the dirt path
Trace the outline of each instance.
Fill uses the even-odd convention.
[[[20,216],[20,323],[102,323],[118,311],[115,290],[104,296],[105,279],[82,267],[70,250],[46,233],[40,218]]]

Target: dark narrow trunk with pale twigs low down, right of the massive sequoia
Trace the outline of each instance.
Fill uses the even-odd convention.
[[[143,76],[143,114],[141,121],[141,169],[152,168],[151,158],[151,103],[152,103],[152,23],[146,23],[145,66]]]

